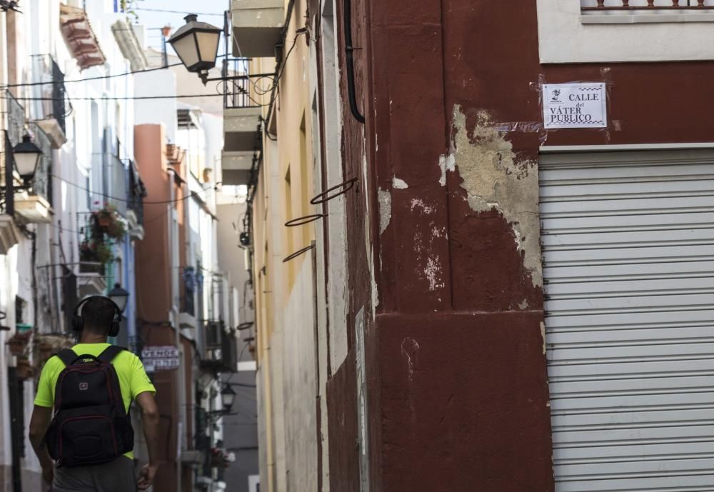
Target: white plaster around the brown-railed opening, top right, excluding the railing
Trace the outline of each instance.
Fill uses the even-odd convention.
[[[537,6],[540,62],[544,64],[714,59],[714,29],[707,22],[622,25],[601,24],[604,19],[598,19],[598,24],[588,24],[581,19],[579,1],[537,0]],[[622,14],[613,14],[613,19],[617,15]]]

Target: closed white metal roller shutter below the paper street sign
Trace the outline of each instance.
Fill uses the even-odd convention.
[[[558,492],[714,491],[714,152],[545,155]]]

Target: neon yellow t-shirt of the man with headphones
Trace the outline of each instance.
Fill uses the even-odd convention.
[[[98,357],[109,343],[78,343],[72,350],[78,356],[90,355]],[[124,409],[129,413],[129,405],[131,401],[139,396],[144,391],[156,393],[156,388],[151,384],[149,376],[146,375],[144,364],[141,363],[139,357],[129,351],[121,351],[118,356],[111,361],[114,365],[116,375],[119,376],[119,387],[121,388],[121,399],[124,401]],[[37,384],[37,396],[35,396],[35,405],[44,407],[54,406],[54,390],[57,386],[57,378],[59,373],[65,368],[64,362],[58,356],[49,358],[42,373],[40,381]],[[125,453],[129,459],[134,459],[134,452]]]

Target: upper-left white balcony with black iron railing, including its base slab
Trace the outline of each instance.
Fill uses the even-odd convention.
[[[59,149],[66,138],[66,103],[64,74],[50,55],[32,56],[32,86],[30,116],[49,137],[52,148]]]

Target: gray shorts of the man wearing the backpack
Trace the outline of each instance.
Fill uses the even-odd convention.
[[[52,492],[136,492],[134,462],[121,456],[103,465],[55,468]]]

